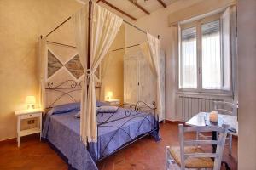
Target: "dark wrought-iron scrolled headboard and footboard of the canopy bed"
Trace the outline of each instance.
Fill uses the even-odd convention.
[[[55,103],[60,100],[62,97],[69,97],[70,99],[73,100],[73,102],[78,102],[76,99],[73,98],[72,94],[74,91],[79,91],[81,90],[81,82],[76,82],[74,80],[67,80],[65,82],[61,82],[60,84],[58,85],[54,85],[54,82],[48,82],[47,84],[47,88],[45,88],[47,91],[48,91],[48,107],[47,109],[49,108],[52,108]],[[96,87],[96,88],[100,88],[100,87]],[[55,91],[55,92],[59,92],[61,93],[61,96],[57,97],[57,99],[55,99],[54,101],[50,102],[50,92],[51,91]],[[126,108],[125,110],[125,116],[123,117],[120,117],[118,119],[113,119],[111,120],[111,118],[114,116],[114,114],[116,114],[121,108]],[[121,119],[125,119],[125,118],[128,118],[128,120],[125,120],[125,122],[123,122],[119,127],[115,127],[117,128],[116,132],[113,133],[113,135],[111,136],[111,138],[109,139],[108,143],[104,146],[104,150],[100,153],[100,142],[97,142],[97,153],[96,153],[96,162],[97,161],[102,161],[102,159],[105,159],[106,157],[108,156],[111,156],[113,155],[115,152],[119,151],[119,150],[122,150],[123,148],[125,148],[126,146],[130,145],[130,144],[133,144],[134,142],[136,142],[138,139],[142,139],[143,137],[149,135],[150,133],[154,133],[154,132],[158,132],[159,131],[159,116],[156,114],[156,104],[155,102],[153,101],[152,102],[152,106],[148,105],[147,103],[143,102],[143,101],[138,101],[135,105],[130,105],[130,104],[123,104],[123,105],[120,105],[116,111],[112,112],[112,113],[101,113],[101,112],[98,112],[97,113],[97,116],[103,116],[103,114],[109,114],[109,116],[107,117],[106,120],[104,120],[103,122],[98,122],[97,120],[97,134],[99,133],[98,132],[98,129],[99,127],[113,127],[113,126],[109,126],[107,125],[109,122],[115,122],[115,121],[119,121]],[[145,111],[145,112],[143,112]],[[147,112],[146,112],[147,111]],[[132,114],[133,113],[133,114]],[[154,114],[154,122],[151,122],[149,119],[148,119],[148,116],[151,116],[152,113]],[[146,115],[145,115],[146,114]],[[144,116],[143,116],[144,115]],[[122,129],[122,127],[127,123],[127,122],[130,122],[131,120],[133,120],[134,118],[136,117],[142,117],[143,118],[143,121],[140,122],[139,124],[139,127],[137,129],[137,133],[139,132],[139,129],[140,127],[143,125],[143,122],[144,121],[148,121],[150,122],[151,125],[153,125],[150,129],[150,131],[148,131],[147,133],[143,133],[143,134],[140,134],[137,136],[137,133],[136,133],[136,137],[134,139],[131,138],[130,134],[125,132],[124,129]],[[154,124],[153,124],[154,123]],[[123,144],[122,146],[120,146],[118,149],[116,150],[113,150],[113,152],[111,152],[110,154],[107,154],[106,156],[104,156],[104,151],[107,149],[108,147],[108,144],[111,143],[112,139],[114,138],[115,134],[117,132],[119,132],[119,130],[122,130],[124,131],[125,133],[127,133],[127,135],[129,136],[129,138],[131,139],[131,141]],[[97,135],[98,136],[98,135]],[[99,138],[99,136],[98,136]],[[99,141],[99,140],[98,140]],[[89,145],[89,144],[88,144]]]

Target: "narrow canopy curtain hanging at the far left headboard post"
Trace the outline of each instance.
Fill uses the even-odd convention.
[[[39,93],[38,103],[40,108],[46,107],[45,98],[45,82],[46,82],[46,69],[47,69],[47,48],[46,37],[39,38]]]

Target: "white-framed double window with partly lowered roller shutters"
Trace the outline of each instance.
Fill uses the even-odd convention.
[[[228,12],[180,25],[180,89],[199,92],[231,90]]]

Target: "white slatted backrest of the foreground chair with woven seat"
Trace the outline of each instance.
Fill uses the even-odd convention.
[[[184,127],[183,124],[179,124],[179,142],[180,142],[180,156],[181,156],[181,169],[185,169],[185,160],[188,157],[212,157],[214,158],[213,170],[219,170],[221,167],[221,160],[224,150],[225,139],[227,137],[227,132],[229,125],[222,125],[222,127],[217,126],[207,126],[207,127]],[[217,132],[219,133],[218,140],[185,140],[184,133],[188,132]],[[217,145],[216,153],[184,153],[185,146],[199,146],[199,145]]]

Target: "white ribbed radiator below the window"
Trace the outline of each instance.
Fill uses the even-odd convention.
[[[186,122],[201,111],[213,111],[213,101],[223,101],[223,99],[178,96],[179,121]]]

